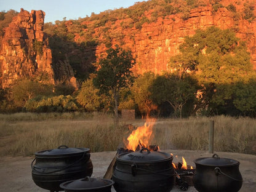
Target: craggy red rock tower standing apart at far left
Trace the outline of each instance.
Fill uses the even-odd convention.
[[[52,52],[42,31],[44,16],[42,10],[21,9],[5,29],[0,49],[2,88],[26,76],[47,76],[46,81],[54,83]]]

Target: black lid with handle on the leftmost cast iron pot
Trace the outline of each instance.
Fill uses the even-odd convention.
[[[57,149],[44,150],[34,153],[36,157],[46,157],[46,156],[65,156],[65,155],[77,155],[89,152],[89,148],[69,148],[66,145],[61,145]]]

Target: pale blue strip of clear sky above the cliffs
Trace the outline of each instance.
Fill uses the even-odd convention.
[[[119,9],[133,6],[143,0],[0,0],[0,11],[10,9],[20,12],[24,10],[43,10],[46,13],[44,22],[54,23],[56,20],[84,18],[94,12],[99,14],[108,9]]]

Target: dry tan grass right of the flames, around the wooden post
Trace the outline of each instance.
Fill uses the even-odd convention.
[[[156,142],[162,149],[208,150],[209,122],[214,120],[214,151],[256,154],[256,119],[169,119],[156,124]]]

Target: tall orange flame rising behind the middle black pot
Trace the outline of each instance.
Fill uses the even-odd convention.
[[[156,122],[156,119],[146,119],[144,126],[133,130],[132,134],[127,138],[128,144],[126,148],[135,151],[138,145],[148,147],[153,133],[154,122]]]

